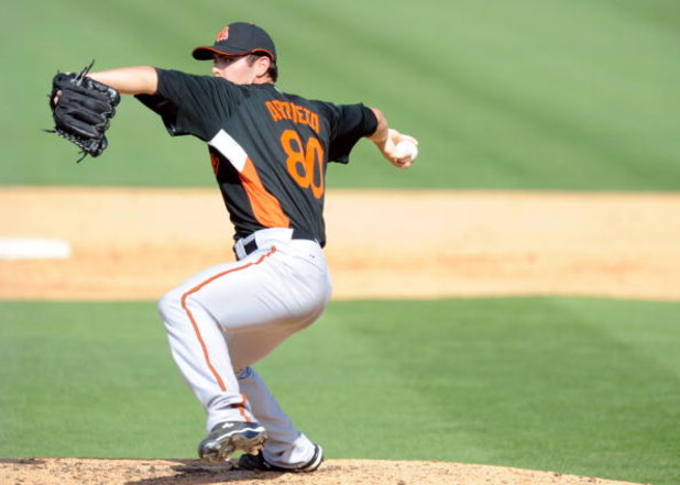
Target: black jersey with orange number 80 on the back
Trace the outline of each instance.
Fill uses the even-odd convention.
[[[354,144],[377,128],[363,104],[332,104],[284,93],[272,84],[156,69],[157,93],[138,98],[173,135],[208,144],[235,238],[295,228],[323,245],[328,162],[348,163]]]

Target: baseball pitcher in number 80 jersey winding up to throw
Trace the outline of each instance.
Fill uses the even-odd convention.
[[[375,108],[281,91],[276,48],[254,24],[224,26],[193,56],[210,60],[212,76],[150,66],[57,75],[54,131],[99,155],[120,92],[135,95],[171,135],[207,144],[237,261],[204,269],[158,304],[173,357],[207,414],[198,454],[222,462],[243,451],[241,469],[312,472],[321,447],[297,430],[252,365],[317,320],[329,301],[327,164],[347,164],[366,137],[407,168],[417,141],[390,129]]]

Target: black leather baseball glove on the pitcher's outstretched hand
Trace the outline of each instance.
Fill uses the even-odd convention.
[[[92,62],[94,64],[94,62]],[[99,156],[108,146],[105,133],[116,114],[120,95],[110,86],[87,77],[92,64],[79,74],[57,73],[52,79],[50,108],[56,133],[75,143],[83,153]]]

